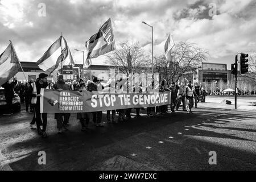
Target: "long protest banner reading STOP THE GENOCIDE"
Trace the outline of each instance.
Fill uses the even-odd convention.
[[[101,93],[41,90],[40,113],[90,113],[170,104],[170,92]]]

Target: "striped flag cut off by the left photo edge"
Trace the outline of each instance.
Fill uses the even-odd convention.
[[[9,81],[19,72],[20,64],[13,45],[9,46],[0,55],[0,86]]]

